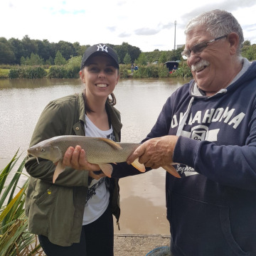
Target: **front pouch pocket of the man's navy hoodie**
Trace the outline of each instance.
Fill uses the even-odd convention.
[[[168,193],[167,209],[173,246],[183,255],[249,255],[233,237],[227,206]]]

